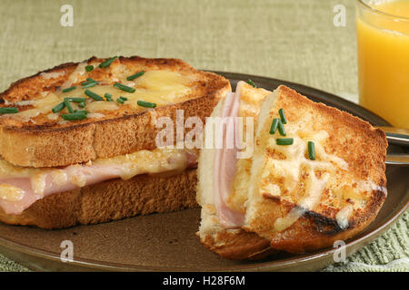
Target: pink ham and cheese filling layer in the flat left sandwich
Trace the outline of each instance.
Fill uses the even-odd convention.
[[[0,194],[0,207],[6,214],[21,214],[36,200],[48,195],[79,189],[109,179],[131,179],[145,173],[159,173],[172,170],[194,168],[197,163],[195,151],[179,150],[163,156],[162,159],[150,160],[143,165],[136,163],[72,165],[63,169],[37,169],[35,174],[23,177],[0,177],[0,187],[7,187],[12,196]],[[40,171],[40,172],[38,172]],[[11,189],[11,190],[10,190]],[[13,189],[15,189],[13,192]],[[23,192],[21,196],[14,193]]]

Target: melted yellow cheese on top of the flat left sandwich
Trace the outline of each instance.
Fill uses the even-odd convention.
[[[95,64],[96,65],[96,64]],[[126,81],[126,77],[132,73],[125,73],[125,69],[117,69],[118,75],[113,78],[110,83],[101,82],[101,84],[94,87],[87,88],[91,92],[104,97],[105,93],[110,93],[114,102],[99,101],[95,102],[93,99],[85,95],[85,89],[81,87],[80,83],[86,79],[85,72],[86,63],[79,63],[73,73],[71,73],[61,89],[71,87],[76,84],[76,88],[71,92],[62,92],[61,89],[55,92],[44,92],[36,96],[34,100],[29,101],[29,105],[34,108],[25,111],[19,111],[15,114],[4,114],[23,121],[30,121],[40,114],[46,114],[46,118],[55,121],[59,115],[68,113],[65,108],[62,111],[54,114],[52,109],[59,103],[64,101],[64,98],[82,97],[86,99],[86,111],[89,112],[104,112],[115,111],[121,108],[121,104],[116,102],[119,97],[125,97],[125,105],[130,105],[133,111],[145,111],[146,108],[137,104],[138,101],[154,102],[156,106],[165,106],[172,103],[184,102],[188,95],[192,93],[190,87],[191,82],[195,80],[195,76],[186,76],[180,73],[170,71],[147,71],[141,77],[132,82]],[[133,72],[135,73],[135,72]],[[45,73],[42,75],[45,79],[55,78],[62,73]],[[114,82],[122,82],[127,86],[135,88],[135,92],[124,92],[113,86]],[[28,103],[27,103],[28,104]],[[15,106],[22,105],[15,103]],[[76,104],[72,103],[73,109],[79,109]],[[96,116],[96,117],[95,117]],[[100,115],[88,115],[88,118],[101,118]]]

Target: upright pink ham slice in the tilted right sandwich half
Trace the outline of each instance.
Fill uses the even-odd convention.
[[[237,162],[238,126],[240,106],[240,87],[224,98],[222,121],[219,128],[223,132],[223,147],[215,149],[214,154],[214,206],[217,217],[225,228],[238,228],[244,225],[244,214],[228,207]],[[224,126],[226,124],[226,126]],[[233,146],[231,146],[233,145]]]

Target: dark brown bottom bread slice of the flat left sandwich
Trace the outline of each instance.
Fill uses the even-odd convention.
[[[0,221],[52,229],[196,208],[196,183],[196,169],[107,180],[39,199],[20,215],[7,215],[0,208]]]

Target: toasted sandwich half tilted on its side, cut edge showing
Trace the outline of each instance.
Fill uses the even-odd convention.
[[[240,142],[200,153],[197,235],[215,253],[244,259],[333,247],[367,227],[382,207],[387,142],[368,122],[283,85],[266,92],[244,82],[211,116],[254,117],[250,158],[237,154]],[[227,144],[244,140],[247,130],[224,131]]]

